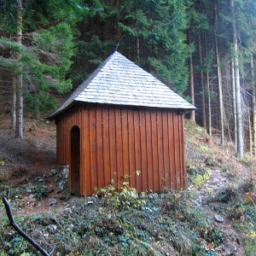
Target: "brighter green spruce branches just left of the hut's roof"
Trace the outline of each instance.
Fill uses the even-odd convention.
[[[60,23],[34,32],[32,37],[28,46],[3,38],[2,44],[20,54],[20,59],[1,57],[0,64],[14,73],[21,70],[26,110],[41,113],[55,108],[53,92],[67,93],[72,89],[71,80],[66,79],[66,75],[73,63],[73,31],[67,23]]]

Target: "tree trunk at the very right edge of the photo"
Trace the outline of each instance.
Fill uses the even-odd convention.
[[[256,93],[255,93],[255,73],[254,59],[251,55],[251,79],[252,79],[252,96],[253,96],[253,154],[256,154]]]

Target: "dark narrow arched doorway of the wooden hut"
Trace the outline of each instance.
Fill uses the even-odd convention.
[[[77,125],[70,131],[70,192],[80,195],[80,129]]]

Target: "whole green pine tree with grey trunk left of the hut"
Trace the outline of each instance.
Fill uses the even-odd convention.
[[[49,90],[64,92],[72,87],[71,81],[66,80],[65,76],[72,63],[69,59],[73,56],[73,28],[67,24],[49,28],[49,41],[44,42],[45,51],[44,47],[39,45],[38,38],[47,32],[44,30],[33,33],[32,31],[37,30],[38,25],[49,27],[51,23],[64,19],[74,25],[82,17],[81,13],[86,11],[80,5],[79,0],[67,1],[66,3],[52,0],[44,2],[26,1],[23,6],[21,0],[14,3],[3,1],[0,8],[3,10],[0,15],[0,20],[3,22],[3,34],[12,35],[16,30],[16,44],[20,45],[19,47],[15,45],[12,39],[1,38],[1,42],[4,48],[9,51],[9,55],[1,56],[0,62],[3,67],[9,68],[14,75],[12,123],[15,126],[16,106],[18,109],[16,135],[22,137],[23,97],[25,96],[26,107],[39,113],[49,106],[53,107],[48,95]],[[70,16],[67,18],[68,14]],[[14,16],[16,22],[13,22]],[[22,44],[22,29],[26,32],[26,44]],[[53,33],[51,37],[50,33]],[[49,49],[49,47],[51,48]],[[49,63],[50,59],[55,59],[55,61]],[[32,88],[33,90],[31,90]],[[17,97],[15,93],[17,93]],[[17,104],[15,103],[16,98]]]

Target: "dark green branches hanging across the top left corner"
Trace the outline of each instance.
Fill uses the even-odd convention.
[[[49,27],[65,21],[74,26],[87,15],[89,9],[81,0],[27,0],[22,1],[22,23],[24,31],[38,30],[38,26]],[[16,32],[17,1],[2,0],[0,21],[4,32]]]

